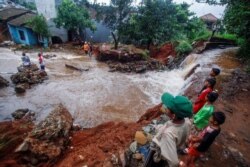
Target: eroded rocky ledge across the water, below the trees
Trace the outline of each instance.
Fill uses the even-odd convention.
[[[110,45],[98,48],[96,59],[106,62],[110,72],[143,73],[152,70],[164,70],[164,63],[149,57],[149,53],[134,46],[123,45],[115,50]]]

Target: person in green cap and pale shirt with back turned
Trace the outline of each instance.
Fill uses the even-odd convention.
[[[161,97],[162,111],[170,118],[164,125],[156,127],[150,153],[145,161],[145,167],[182,166],[177,149],[185,144],[189,135],[191,123],[186,117],[192,116],[192,103],[185,96],[172,96],[164,93]]]

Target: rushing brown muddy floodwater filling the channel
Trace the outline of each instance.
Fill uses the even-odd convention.
[[[224,50],[208,51],[190,55],[180,69],[145,74],[110,73],[108,67],[93,57],[76,56],[58,52],[57,57],[45,59],[49,80],[16,95],[13,85],[0,90],[0,119],[10,118],[19,108],[29,108],[37,113],[37,120],[43,119],[52,108],[64,104],[72,113],[75,123],[85,127],[95,126],[111,120],[136,121],[142,113],[160,103],[160,96],[168,91],[174,95],[188,85],[185,75],[197,63],[196,71],[209,71],[213,61]],[[21,63],[21,52],[0,48],[0,73],[9,79]],[[45,53],[46,54],[46,53]],[[36,53],[28,54],[38,64]],[[87,72],[65,68],[65,63],[88,67]]]

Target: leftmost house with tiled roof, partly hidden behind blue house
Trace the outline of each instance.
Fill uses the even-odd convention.
[[[29,13],[26,9],[3,8],[0,10],[0,42],[3,40],[11,40],[7,23],[26,13]]]

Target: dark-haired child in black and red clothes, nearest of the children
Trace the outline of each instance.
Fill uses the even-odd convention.
[[[194,162],[201,154],[206,152],[215,138],[219,135],[222,125],[225,122],[226,116],[223,112],[214,112],[210,117],[209,126],[207,126],[197,136],[192,136],[188,148],[188,156],[186,158],[187,166],[195,166]]]

